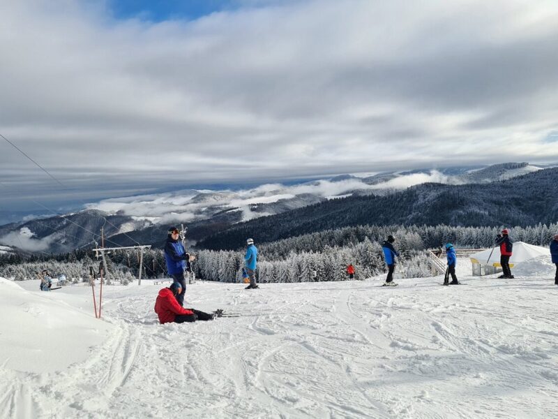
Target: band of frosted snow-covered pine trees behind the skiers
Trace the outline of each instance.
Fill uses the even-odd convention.
[[[424,257],[425,249],[447,242],[458,248],[489,248],[500,228],[453,226],[357,226],[325,230],[319,233],[290,237],[277,242],[257,244],[260,282],[339,281],[347,278],[349,263],[356,267],[355,278],[363,279],[385,270],[381,245],[385,237],[396,237],[395,247],[401,253],[398,267],[402,277],[428,277],[430,267]],[[511,228],[511,238],[539,246],[547,246],[557,224]],[[257,240],[257,237],[256,237]],[[193,270],[206,281],[240,282],[243,249],[209,251],[190,249],[197,259]],[[74,251],[57,256],[0,256],[0,276],[15,280],[36,279],[36,272],[49,270],[54,276],[65,274],[70,281],[89,278],[89,267],[99,262],[90,252]],[[110,281],[128,284],[137,277],[137,252],[116,251],[107,258]],[[314,279],[312,272],[316,272]],[[166,277],[163,251],[150,249],[144,253],[145,278]]]

